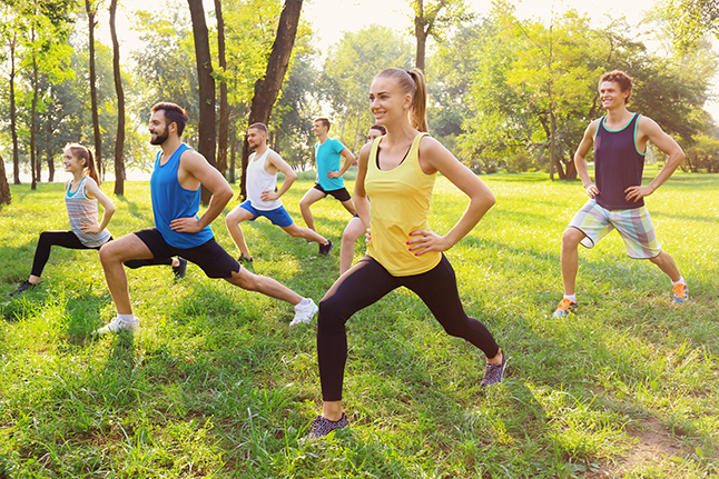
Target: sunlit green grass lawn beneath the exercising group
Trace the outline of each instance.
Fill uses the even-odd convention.
[[[309,180],[284,198],[299,224]],[[314,323],[289,329],[286,303],[197,267],[177,282],[154,267],[128,270],[141,331],[95,341],[115,313],[97,253],[53,249],[41,288],[0,301],[0,478],[719,477],[719,177],[678,173],[648,199],[689,303],[671,305],[669,280],[612,233],[580,252],[580,310],[564,320],[548,316],[581,186],[483,180],[498,203],[447,257],[469,313],[510,353],[503,385],[482,390],[481,352],[398,290],[348,322],[352,427],[303,446],[321,398]],[[149,186],[126,188],[115,237],[152,222]],[[11,190],[2,295],[39,232],[69,226],[61,184]],[[437,180],[431,224],[445,232],[465,204]],[[348,214],[333,200],[314,212],[338,245]],[[236,255],[221,217],[214,230]],[[318,258],[265,220],[244,231],[258,273],[316,301],[336,279],[337,251]]]

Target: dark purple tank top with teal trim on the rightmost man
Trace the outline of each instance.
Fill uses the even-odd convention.
[[[599,194],[597,203],[608,210],[631,210],[644,206],[644,200],[627,201],[624,190],[641,186],[644,154],[637,149],[637,123],[640,114],[619,130],[604,127],[599,120],[594,136],[594,174]]]

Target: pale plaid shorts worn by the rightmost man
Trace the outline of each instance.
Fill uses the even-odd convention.
[[[624,240],[627,255],[633,259],[651,259],[659,256],[661,246],[657,242],[654,227],[646,207],[631,210],[608,210],[590,199],[574,214],[570,227],[585,236],[581,245],[593,248],[607,233],[615,229]]]

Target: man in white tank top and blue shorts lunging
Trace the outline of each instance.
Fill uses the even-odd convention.
[[[289,190],[297,179],[297,173],[279,154],[267,147],[267,127],[264,123],[250,124],[247,129],[247,142],[255,150],[247,163],[247,200],[225,218],[227,230],[240,252],[239,261],[246,266],[253,261],[239,223],[247,220],[254,221],[258,217],[266,217],[292,237],[315,241],[319,245],[319,255],[329,255],[332,241],[309,228],[298,227],[282,206],[279,197]],[[285,181],[278,190],[277,171],[285,174]]]

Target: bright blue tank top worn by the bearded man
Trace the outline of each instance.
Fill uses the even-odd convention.
[[[200,189],[187,190],[177,180],[179,159],[188,150],[186,143],[179,146],[165,164],[160,164],[162,150],[155,158],[155,170],[150,177],[150,196],[155,228],[162,234],[165,241],[175,248],[194,248],[213,239],[213,230],[206,226],[196,233],[178,232],[170,229],[170,221],[176,218],[199,218]]]

